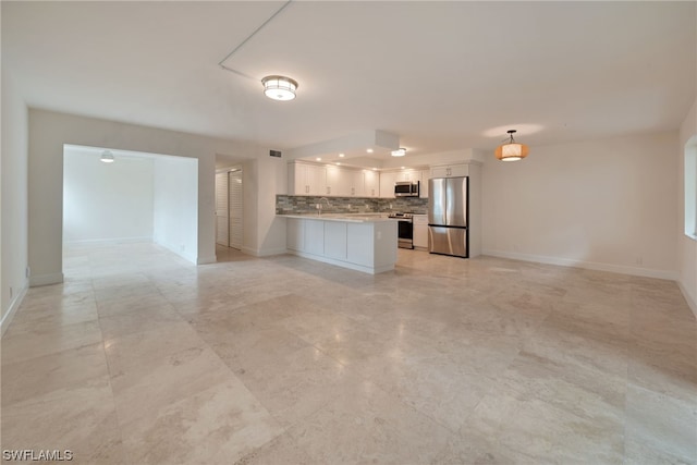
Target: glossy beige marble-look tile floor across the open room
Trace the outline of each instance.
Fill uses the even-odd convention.
[[[2,339],[2,449],[81,464],[695,464],[676,284],[400,250],[65,250]]]

